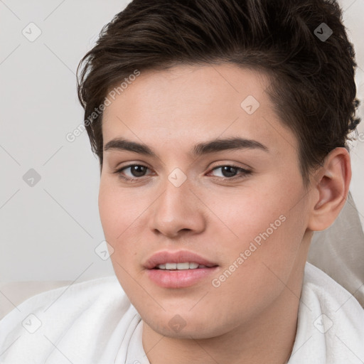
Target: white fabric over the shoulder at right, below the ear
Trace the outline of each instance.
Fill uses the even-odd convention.
[[[364,309],[321,269],[306,263],[290,364],[363,363]],[[360,359],[359,359],[360,358]]]

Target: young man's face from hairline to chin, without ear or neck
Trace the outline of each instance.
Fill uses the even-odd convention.
[[[181,65],[141,72],[105,109],[102,228],[120,284],[158,333],[247,326],[299,282],[309,195],[268,85],[235,65]]]

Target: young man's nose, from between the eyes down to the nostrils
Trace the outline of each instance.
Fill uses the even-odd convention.
[[[207,211],[188,180],[179,187],[167,180],[164,187],[164,192],[152,205],[149,228],[169,238],[178,237],[183,232],[203,232]]]

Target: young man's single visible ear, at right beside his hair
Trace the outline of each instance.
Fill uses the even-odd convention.
[[[321,231],[333,224],[346,203],[350,181],[350,154],[345,148],[333,149],[311,182],[309,230]]]

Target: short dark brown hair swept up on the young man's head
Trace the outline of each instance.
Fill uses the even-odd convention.
[[[299,141],[308,186],[311,168],[332,149],[348,149],[360,122],[355,52],[342,16],[334,0],[132,1],[102,28],[77,68],[78,97],[100,168],[102,112],[95,109],[117,82],[135,70],[232,63],[270,76],[268,95]],[[332,35],[319,38],[323,29]]]

